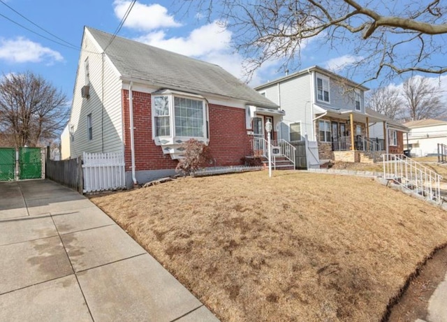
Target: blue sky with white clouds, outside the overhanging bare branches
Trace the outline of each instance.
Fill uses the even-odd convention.
[[[130,3],[127,0],[2,1],[62,41],[0,3],[1,15],[57,42],[33,34],[0,16],[0,73],[38,73],[60,88],[69,101],[73,96],[79,50],[69,45],[66,47],[66,43],[80,47],[85,25],[112,34]],[[233,36],[230,30],[217,21],[208,22],[201,13],[186,16],[170,6],[171,1],[137,1],[119,36],[219,64],[238,78],[243,78],[242,57],[230,47]],[[355,57],[348,52],[328,52],[321,47],[312,47],[311,42],[302,52],[301,66],[335,68],[353,59]],[[265,64],[256,72],[250,85],[259,85],[284,75],[278,73],[277,68],[275,62]],[[361,81],[362,75],[358,78],[357,81]],[[433,82],[447,92],[447,76],[433,77]],[[373,88],[374,84],[367,86]],[[396,86],[399,86],[399,81]]]

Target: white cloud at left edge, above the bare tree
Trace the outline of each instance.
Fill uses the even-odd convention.
[[[0,59],[13,63],[38,63],[47,61],[62,61],[62,55],[40,43],[34,43],[27,38],[17,37],[15,39],[0,39]]]

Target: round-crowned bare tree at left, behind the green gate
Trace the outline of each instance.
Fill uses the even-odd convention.
[[[0,79],[0,133],[9,145],[34,147],[54,138],[67,115],[66,96],[41,76],[26,72]]]

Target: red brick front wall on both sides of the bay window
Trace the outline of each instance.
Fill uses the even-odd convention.
[[[152,140],[151,95],[133,94],[133,136],[135,140],[135,170],[173,169],[178,161],[163,154],[162,147]],[[126,170],[131,169],[131,139],[129,118],[129,91],[122,92],[124,122],[124,154]],[[243,164],[250,154],[250,137],[245,129],[245,110],[221,105],[209,105],[210,148],[216,166]]]

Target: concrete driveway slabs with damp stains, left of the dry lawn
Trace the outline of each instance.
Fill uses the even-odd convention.
[[[84,196],[0,182],[0,321],[219,321]]]

